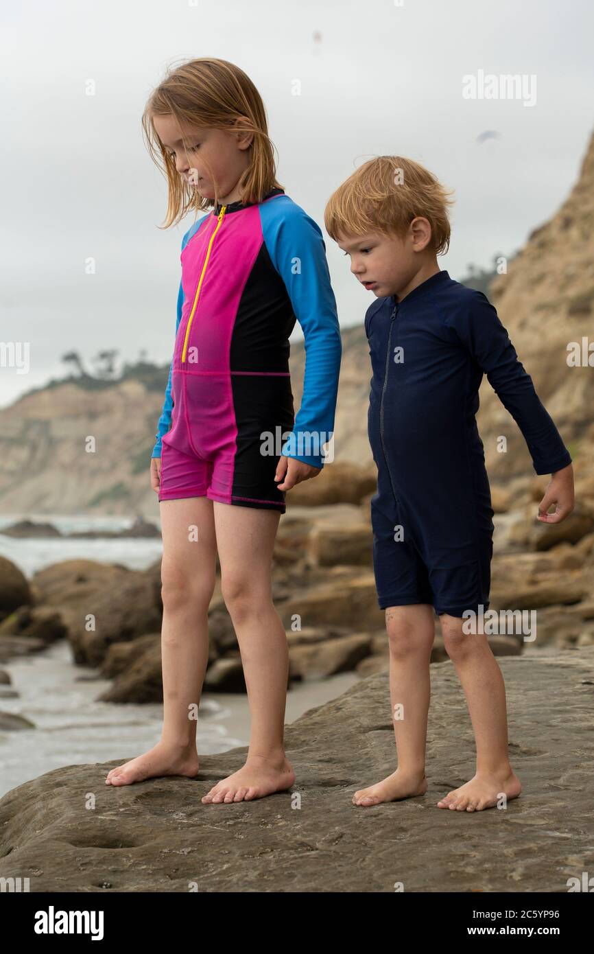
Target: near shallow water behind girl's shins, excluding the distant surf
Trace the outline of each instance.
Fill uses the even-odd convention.
[[[97,702],[111,683],[96,678],[92,669],[74,666],[66,640],[0,668],[10,674],[10,689],[19,694],[8,698],[0,692],[0,711],[26,716],[34,724],[33,729],[0,730],[0,798],[61,766],[114,758],[127,761],[152,748],[161,736],[161,703]],[[285,722],[336,698],[356,682],[356,674],[343,673],[298,683],[287,696]],[[196,732],[198,755],[247,745],[249,736],[246,695],[203,695]]]

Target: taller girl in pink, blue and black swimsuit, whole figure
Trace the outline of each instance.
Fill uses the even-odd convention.
[[[143,129],[168,179],[165,227],[190,208],[212,211],[181,244],[174,358],[151,462],[163,535],[163,731],[106,782],[197,773],[193,713],[218,551],[252,732],[245,765],[202,801],[259,798],[295,781],[283,748],[288,652],[271,567],[285,492],[317,476],[332,437],[336,301],[321,231],[277,182],[264,106],[245,73],[219,59],[182,64],[154,90]],[[306,366],[294,420],[296,317]]]

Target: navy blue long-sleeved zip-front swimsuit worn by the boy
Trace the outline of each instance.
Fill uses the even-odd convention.
[[[402,301],[374,301],[365,334],[379,608],[486,611],[494,511],[475,417],[483,373],[521,428],[537,474],[566,467],[569,451],[493,305],[446,271]]]

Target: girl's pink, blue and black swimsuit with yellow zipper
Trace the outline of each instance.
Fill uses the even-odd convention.
[[[341,357],[317,223],[282,189],[218,204],[184,235],[174,358],[153,457],[159,501],[207,496],[285,512],[280,453],[323,467]],[[305,338],[294,415],[289,336]],[[170,429],[171,425],[171,429]]]

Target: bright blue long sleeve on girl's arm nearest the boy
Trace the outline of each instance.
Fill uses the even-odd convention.
[[[305,338],[301,406],[281,453],[323,467],[329,456],[322,452],[323,445],[334,436],[342,354],[326,246],[317,222],[289,197],[263,202],[260,217],[268,254]]]

